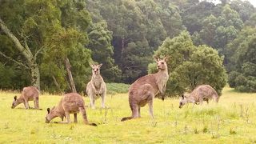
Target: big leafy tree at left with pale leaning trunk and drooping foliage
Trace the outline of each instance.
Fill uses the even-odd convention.
[[[60,84],[66,80],[65,60],[69,58],[72,66],[75,60],[70,58],[72,52],[85,49],[84,45],[88,42],[86,27],[90,23],[90,15],[84,9],[85,6],[82,1],[1,1],[0,17],[5,22],[1,22],[1,27],[9,38],[2,35],[0,41],[6,43],[11,39],[15,44],[2,46],[1,54],[5,55],[6,60],[12,59],[29,69],[32,85],[39,88],[40,69],[42,76],[47,77],[41,81],[43,90],[50,86],[46,83],[54,83],[58,89],[66,89],[61,86],[69,85],[67,81],[67,85]],[[4,26],[10,29],[12,37]],[[90,54],[89,50],[81,51],[82,54]],[[89,66],[90,56],[86,58],[86,66]],[[77,68],[72,66],[73,70],[81,70]]]

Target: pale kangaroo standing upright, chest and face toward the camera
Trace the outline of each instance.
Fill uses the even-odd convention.
[[[102,64],[91,65],[93,75],[86,86],[86,93],[90,98],[90,106],[92,109],[95,109],[94,102],[99,97],[102,97],[102,108],[105,108],[106,83],[100,74],[101,66]]]

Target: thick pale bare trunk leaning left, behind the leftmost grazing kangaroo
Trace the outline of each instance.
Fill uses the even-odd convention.
[[[25,47],[22,46],[21,42],[19,42],[18,38],[14,34],[10,32],[8,27],[5,25],[4,22],[2,22],[2,19],[0,18],[0,27],[2,31],[10,38],[12,42],[14,42],[14,45],[16,49],[18,49],[22,56],[26,58],[26,63],[29,66],[30,72],[31,72],[31,84],[33,86],[36,86],[38,90],[40,91],[40,73],[39,73],[39,67],[37,62],[34,59],[34,55],[32,54],[31,50],[29,49],[29,46],[26,45],[25,41]]]

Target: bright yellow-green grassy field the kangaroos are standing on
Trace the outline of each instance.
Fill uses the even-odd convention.
[[[0,92],[0,143],[255,143],[256,94],[240,94],[225,88],[218,104],[178,108],[178,98],[155,99],[154,116],[148,106],[142,118],[120,122],[130,116],[127,94],[107,95],[109,109],[86,109],[90,122],[86,126],[78,114],[78,124],[45,123],[46,108],[61,97],[41,95],[43,110],[10,109],[14,93]],[[86,105],[89,98],[84,98]],[[30,106],[34,106],[30,102]],[[100,100],[96,101],[100,106]],[[73,115],[71,119],[74,120]],[[60,118],[55,118],[55,122]]]

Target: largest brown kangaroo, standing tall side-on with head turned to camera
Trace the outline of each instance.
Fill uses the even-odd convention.
[[[122,118],[122,122],[132,118],[141,117],[140,108],[147,103],[150,108],[150,115],[154,118],[153,114],[153,99],[154,96],[160,93],[162,100],[165,98],[166,82],[169,78],[167,70],[167,58],[160,60],[155,58],[158,63],[158,73],[148,74],[142,78],[138,78],[129,89],[129,103],[132,112],[131,117]]]

